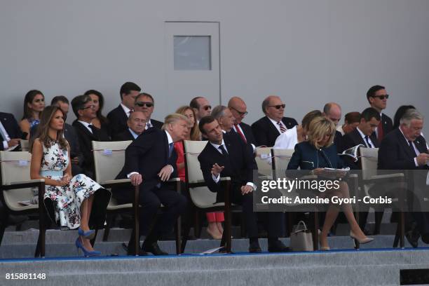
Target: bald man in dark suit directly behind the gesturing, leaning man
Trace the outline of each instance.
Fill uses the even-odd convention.
[[[233,130],[240,135],[243,142],[252,144],[252,147],[256,147],[256,139],[254,139],[252,127],[243,122],[243,119],[247,115],[247,105],[240,97],[231,97],[228,102],[228,108],[234,116]]]

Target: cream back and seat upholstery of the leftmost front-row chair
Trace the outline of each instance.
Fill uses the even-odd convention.
[[[24,182],[30,179],[32,154],[25,151],[0,151],[0,161],[1,184],[9,185],[13,182]],[[3,191],[3,196],[6,205],[11,210],[18,211],[38,207],[38,205],[24,206],[18,203],[34,198],[32,188],[6,190]]]

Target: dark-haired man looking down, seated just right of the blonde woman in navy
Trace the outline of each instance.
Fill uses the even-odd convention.
[[[380,123],[380,114],[376,109],[368,107],[362,114],[360,114],[360,122],[357,127],[348,132],[343,136],[343,149],[349,149],[355,147],[359,144],[364,145],[367,148],[379,148],[379,141],[376,138],[374,130]],[[355,161],[349,156],[341,157],[344,163],[353,170],[361,170],[360,158]],[[379,189],[379,186],[377,186]],[[371,191],[371,189],[369,190]],[[376,212],[376,224],[374,227],[374,234],[379,234],[381,219],[383,218],[383,212]],[[367,223],[368,211],[360,210],[359,212],[359,225],[361,229],[365,229],[365,224]],[[367,231],[368,233],[369,231]]]

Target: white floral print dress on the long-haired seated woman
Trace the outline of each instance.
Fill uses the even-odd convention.
[[[53,142],[49,148],[43,144],[40,169],[42,177],[60,180],[63,177],[63,172],[67,169],[67,165],[69,165],[67,149],[61,149],[57,142]],[[74,176],[67,186],[46,185],[44,198],[53,201],[55,221],[60,226],[76,229],[81,225],[81,203],[98,189],[102,189],[100,184],[86,175],[79,174]]]

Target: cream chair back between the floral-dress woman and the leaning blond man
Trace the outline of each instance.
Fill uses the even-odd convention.
[[[93,141],[95,180],[102,184],[121,172],[125,163],[125,149],[132,141]]]

